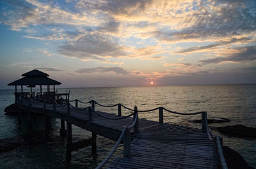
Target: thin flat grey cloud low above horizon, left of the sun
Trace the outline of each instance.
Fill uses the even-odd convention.
[[[131,71],[124,70],[120,67],[97,67],[97,68],[82,68],[76,71],[76,73],[108,73],[114,72],[118,75],[131,75]]]

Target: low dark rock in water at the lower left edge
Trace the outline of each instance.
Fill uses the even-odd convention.
[[[5,138],[0,140],[0,153],[11,151],[22,145],[23,140],[20,138]]]

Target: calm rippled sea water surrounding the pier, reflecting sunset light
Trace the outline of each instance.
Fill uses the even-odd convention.
[[[70,91],[70,99],[90,101],[94,99],[104,105],[122,103],[126,107],[138,110],[164,107],[177,112],[207,111],[208,117],[225,117],[231,122],[210,124],[210,127],[243,124],[256,128],[256,85],[191,85],[164,87],[102,87],[58,89],[58,92]],[[19,126],[15,117],[4,115],[4,108],[13,103],[13,90],[0,90],[0,139],[24,135],[25,127]],[[87,105],[79,105],[87,106]],[[105,112],[116,113],[116,108],[100,108]],[[129,111],[123,111],[129,114]],[[158,120],[158,112],[140,113],[140,117]],[[200,128],[200,124],[189,121],[200,119],[200,115],[174,115],[164,112],[164,122],[172,122]],[[40,119],[39,119],[40,121]],[[58,134],[60,121],[52,120],[54,134]],[[43,125],[36,126],[43,129]],[[88,138],[90,132],[72,126],[74,140]],[[213,131],[216,133],[216,131]],[[220,133],[216,133],[221,135]],[[223,136],[223,135],[221,135]],[[33,146],[20,147],[14,151],[0,154],[0,168],[95,168],[111,151],[115,142],[97,137],[97,156],[91,156],[90,147],[72,152],[72,161],[65,162],[65,145],[63,142],[40,143]],[[256,167],[256,140],[227,138],[223,136],[223,144],[236,150],[249,165]],[[118,148],[115,156],[120,154]]]

